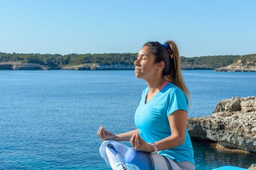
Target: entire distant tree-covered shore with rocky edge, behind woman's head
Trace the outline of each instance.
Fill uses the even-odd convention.
[[[0,70],[129,70],[134,69],[137,53],[104,54],[23,54],[0,52]],[[256,54],[180,56],[181,69],[215,71],[256,71]]]

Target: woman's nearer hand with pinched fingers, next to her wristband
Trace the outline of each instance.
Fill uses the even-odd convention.
[[[138,150],[138,151],[144,151],[144,152],[153,152],[154,148],[147,144],[147,142],[145,142],[138,133],[135,133],[131,139],[130,142],[133,146],[134,150]]]

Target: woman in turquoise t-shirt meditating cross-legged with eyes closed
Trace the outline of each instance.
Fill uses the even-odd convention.
[[[186,129],[190,94],[176,44],[147,42],[134,65],[148,85],[135,113],[137,129],[114,135],[100,126],[101,156],[114,170],[195,170]],[[117,141],[130,141],[132,148]]]

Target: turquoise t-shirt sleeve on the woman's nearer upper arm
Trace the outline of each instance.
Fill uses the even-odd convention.
[[[180,88],[173,88],[166,102],[167,116],[180,109],[188,111],[188,99]]]

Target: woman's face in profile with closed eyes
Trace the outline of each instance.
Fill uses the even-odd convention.
[[[134,65],[135,76],[140,79],[147,80],[154,78],[158,71],[158,64],[155,63],[155,56],[150,53],[148,46],[144,46],[140,49]]]

